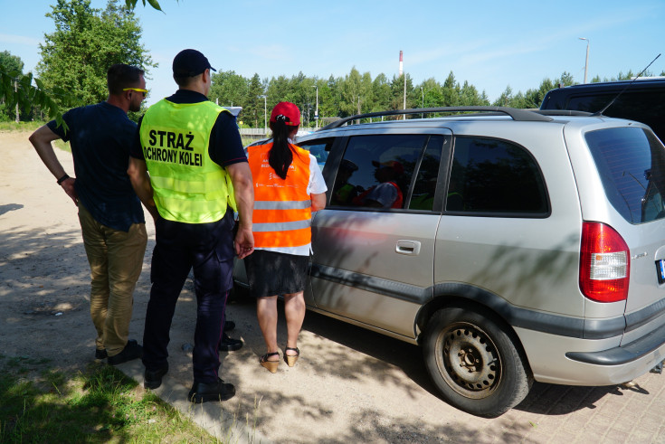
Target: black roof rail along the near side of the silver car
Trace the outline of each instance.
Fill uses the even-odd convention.
[[[543,116],[536,110],[527,110],[527,109],[517,109],[517,108],[508,108],[508,107],[438,107],[438,108],[418,108],[418,109],[389,109],[386,111],[376,111],[368,112],[366,114],[357,114],[356,116],[349,116],[347,118],[340,118],[335,120],[332,123],[329,123],[321,129],[332,129],[339,128],[342,125],[346,124],[350,120],[357,120],[360,118],[377,118],[382,116],[398,116],[401,114],[427,114],[435,112],[450,112],[450,113],[461,113],[461,112],[482,112],[482,113],[492,113],[496,114],[505,114],[513,118],[513,120],[518,121],[537,121],[537,122],[549,122],[552,118]]]

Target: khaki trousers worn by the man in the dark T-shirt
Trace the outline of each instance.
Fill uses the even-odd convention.
[[[95,345],[109,356],[127,345],[134,288],[143,266],[145,223],[119,231],[95,221],[79,203],[79,221],[90,263],[90,316],[97,329]]]

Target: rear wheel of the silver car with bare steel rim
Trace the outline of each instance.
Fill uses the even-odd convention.
[[[427,371],[452,406],[495,418],[526,396],[533,383],[526,359],[489,312],[461,307],[436,311],[425,329]]]

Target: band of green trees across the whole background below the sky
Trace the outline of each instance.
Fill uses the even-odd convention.
[[[44,35],[36,78],[30,72],[23,73],[24,63],[19,57],[0,52],[0,120],[14,120],[17,114],[24,121],[62,120],[66,109],[106,99],[106,71],[113,63],[137,65],[149,75],[157,63],[141,43],[142,29],[134,14],[136,4],[137,0],[126,0],[124,5],[109,0],[102,10],[90,7],[90,0],[57,0],[47,14],[55,31]],[[148,0],[148,4],[159,9],[157,1]],[[624,80],[634,75],[632,71],[620,72],[616,78],[596,76],[592,82]],[[392,78],[381,73],[373,78],[356,67],[343,77],[331,75],[328,79],[302,72],[270,79],[261,79],[255,73],[247,78],[235,71],[219,71],[212,79],[209,99],[223,106],[242,107],[239,121],[244,128],[263,128],[265,111],[283,100],[298,105],[305,127],[317,125],[318,103],[320,127],[336,118],[386,109],[477,105],[537,109],[548,90],[575,83],[570,73],[563,72],[525,92],[514,93],[507,86],[498,99],[490,102],[484,90],[468,81],[460,82],[452,71],[443,82],[432,77],[417,84],[408,73]],[[136,119],[138,115],[130,117]]]

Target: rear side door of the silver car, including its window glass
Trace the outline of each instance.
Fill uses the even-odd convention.
[[[384,130],[354,133],[339,147],[328,207],[312,222],[319,310],[414,337],[415,315],[432,296],[437,177],[450,143],[445,130]]]

